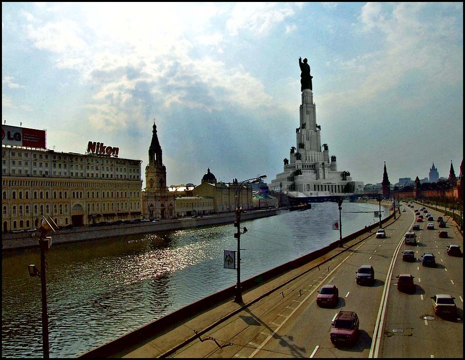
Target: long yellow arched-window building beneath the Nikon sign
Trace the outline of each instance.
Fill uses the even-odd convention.
[[[103,145],[103,144],[102,144]],[[139,219],[140,160],[2,144],[2,231]]]

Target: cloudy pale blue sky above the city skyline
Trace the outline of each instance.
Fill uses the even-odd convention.
[[[2,2],[2,124],[148,163],[167,184],[283,170],[299,126],[299,57],[321,142],[353,180],[428,177],[463,159],[462,3]],[[144,185],[145,186],[145,185]]]

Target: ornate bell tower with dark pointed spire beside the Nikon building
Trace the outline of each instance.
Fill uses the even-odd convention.
[[[174,216],[174,194],[168,193],[167,169],[163,165],[162,148],[158,141],[157,126],[153,123],[149,147],[149,165],[145,168],[144,213],[148,218],[168,219]]]

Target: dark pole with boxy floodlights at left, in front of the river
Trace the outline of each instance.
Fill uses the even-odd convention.
[[[42,216],[41,226],[39,227],[40,271],[37,270],[37,267],[34,264],[28,266],[29,276],[39,277],[42,289],[42,347],[44,359],[50,358],[48,341],[47,281],[45,278],[45,251],[52,246],[52,237],[47,236],[47,233],[50,232],[50,230],[56,232],[58,230],[58,226],[50,216],[48,216],[48,219],[45,216]]]

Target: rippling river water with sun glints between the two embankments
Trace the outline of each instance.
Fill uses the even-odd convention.
[[[381,208],[383,218],[388,208]],[[342,205],[342,236],[376,223],[377,205]],[[336,203],[242,222],[241,280],[339,239]],[[223,250],[237,250],[233,224],[52,245],[46,255],[51,358],[76,357],[207,295],[233,286]],[[42,357],[38,248],[2,255],[1,353]]]

